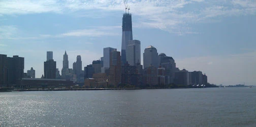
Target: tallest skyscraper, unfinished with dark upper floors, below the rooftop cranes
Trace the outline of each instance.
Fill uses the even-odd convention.
[[[122,64],[126,63],[126,46],[128,45],[129,40],[133,40],[132,14],[125,13],[122,17]]]

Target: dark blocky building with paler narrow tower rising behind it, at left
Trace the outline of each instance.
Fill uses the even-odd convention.
[[[44,78],[56,78],[56,61],[48,60],[44,62]]]

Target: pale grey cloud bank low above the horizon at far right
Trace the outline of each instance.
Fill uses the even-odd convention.
[[[256,52],[175,59],[179,68],[189,71],[200,70],[208,76],[208,82],[216,84],[255,85]]]

